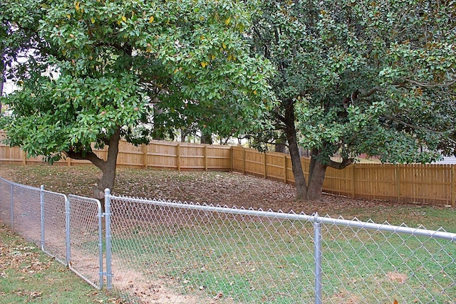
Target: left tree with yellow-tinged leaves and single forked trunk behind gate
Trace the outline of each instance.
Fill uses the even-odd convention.
[[[24,9],[21,1],[9,5]],[[259,93],[267,88],[268,68],[249,56],[244,4],[62,0],[39,7],[36,32],[47,47],[34,64],[54,66],[59,76],[21,78],[21,90],[7,98],[14,110],[5,126],[9,144],[50,162],[93,162],[103,172],[97,198],[113,188],[121,137],[145,143],[152,131],[180,127],[186,116],[211,108],[234,106],[249,122],[266,106]],[[228,129],[230,115],[218,114],[228,117],[218,125],[207,122],[211,131]],[[106,145],[106,159],[92,150]]]

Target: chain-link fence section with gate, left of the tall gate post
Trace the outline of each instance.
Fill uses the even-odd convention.
[[[103,288],[100,201],[0,178],[0,221],[95,288]]]

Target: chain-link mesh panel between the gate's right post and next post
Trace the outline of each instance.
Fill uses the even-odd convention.
[[[111,212],[113,286],[128,290],[131,301],[306,303],[314,298],[309,222],[125,198],[113,199]]]

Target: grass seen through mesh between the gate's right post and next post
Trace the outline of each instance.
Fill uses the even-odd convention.
[[[180,292],[196,290],[203,298],[222,293],[236,303],[312,300],[311,239],[305,243],[293,243],[286,237],[279,240],[264,235],[264,225],[258,223],[192,223],[169,227],[169,233],[163,228],[157,231],[156,226],[135,227],[140,234],[113,238],[113,256],[128,259],[137,271],[147,269],[153,276],[173,278],[175,285],[184,287]],[[297,225],[299,230],[305,229]],[[130,233],[123,230],[125,234]]]

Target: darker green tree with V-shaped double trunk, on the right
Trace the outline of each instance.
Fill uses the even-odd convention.
[[[274,63],[280,100],[265,129],[286,135],[298,199],[320,199],[326,168],[361,153],[383,162],[455,154],[454,1],[261,4],[252,52]],[[307,180],[299,145],[311,151]]]

